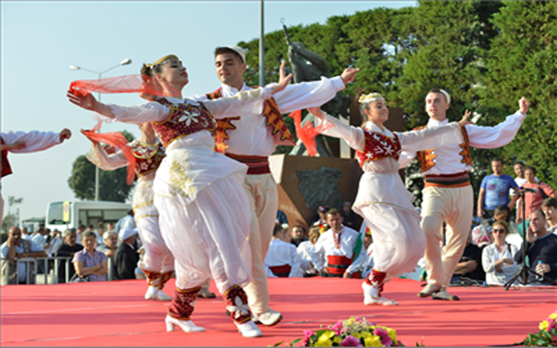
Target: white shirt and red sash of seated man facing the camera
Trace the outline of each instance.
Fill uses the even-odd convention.
[[[340,232],[329,229],[321,234],[311,249],[310,255],[317,271],[327,268],[330,276],[342,277],[345,272],[356,278],[359,269],[366,261],[364,248],[354,255],[354,248],[361,236],[349,227],[343,227]]]

